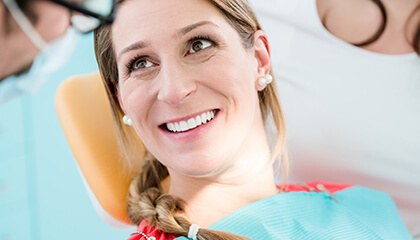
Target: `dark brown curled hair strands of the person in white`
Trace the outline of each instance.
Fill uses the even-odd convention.
[[[361,43],[353,43],[353,45],[356,47],[363,47],[363,46],[367,46],[369,44],[376,42],[384,33],[386,25],[388,23],[388,15],[387,15],[386,8],[383,2],[381,0],[369,0],[369,1],[376,4],[376,6],[379,8],[379,11],[381,12],[381,16],[382,16],[382,22],[381,22],[381,25],[376,30],[376,32],[370,38],[368,38],[367,40]],[[405,37],[407,41],[413,46],[416,53],[420,55],[420,17],[418,17],[418,15],[420,15],[420,4],[418,4],[414,8],[414,10],[411,12],[410,16],[408,17],[406,21],[406,25],[405,25],[406,36]],[[416,19],[417,19],[417,23],[414,23],[414,29],[415,29],[413,32],[414,34],[413,34],[412,39],[410,39],[411,33],[408,29],[409,24],[411,23],[411,21],[416,21]]]

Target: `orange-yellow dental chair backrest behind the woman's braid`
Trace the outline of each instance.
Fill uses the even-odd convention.
[[[131,179],[124,174],[111,107],[99,73],[67,79],[55,101],[64,134],[88,188],[109,215],[130,224],[126,195]]]

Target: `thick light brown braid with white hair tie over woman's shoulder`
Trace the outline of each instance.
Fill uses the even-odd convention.
[[[191,222],[185,216],[185,202],[167,193],[162,193],[161,182],[169,176],[167,168],[151,154],[140,172],[131,182],[128,194],[128,216],[139,225],[146,220],[150,226],[178,236],[187,236]],[[244,240],[245,237],[230,233],[202,229],[198,240]]]

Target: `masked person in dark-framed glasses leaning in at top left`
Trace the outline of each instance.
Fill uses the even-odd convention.
[[[0,104],[38,90],[72,56],[79,33],[113,21],[114,4],[113,0],[2,0]]]

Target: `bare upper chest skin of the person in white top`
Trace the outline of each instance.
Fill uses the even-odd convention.
[[[362,48],[384,54],[414,52],[411,41],[420,14],[417,14],[408,24],[407,19],[420,1],[382,0],[382,2],[388,16],[385,31],[377,41]],[[326,28],[349,43],[364,42],[375,34],[382,22],[378,7],[367,0],[317,0],[317,6],[320,18],[326,18]]]

